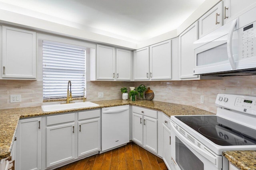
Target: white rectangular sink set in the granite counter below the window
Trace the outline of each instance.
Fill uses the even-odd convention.
[[[83,107],[94,107],[99,106],[98,104],[92,102],[76,102],[76,103],[69,103],[69,104],[49,104],[49,105],[42,105],[42,111],[59,111],[59,110],[66,110],[66,109],[78,109]]]

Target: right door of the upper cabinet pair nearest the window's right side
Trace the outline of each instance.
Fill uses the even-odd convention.
[[[116,49],[116,80],[131,80],[131,51]]]

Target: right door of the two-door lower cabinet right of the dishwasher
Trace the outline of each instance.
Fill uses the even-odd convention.
[[[144,116],[144,147],[157,153],[157,120]]]

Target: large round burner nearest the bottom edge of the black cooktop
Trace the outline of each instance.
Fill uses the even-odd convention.
[[[202,133],[204,136],[221,140],[221,141],[226,141],[226,142],[244,141],[243,135],[230,131],[219,125],[216,125],[215,127],[214,126],[200,127],[198,131]]]

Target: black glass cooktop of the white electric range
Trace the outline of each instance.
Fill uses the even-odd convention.
[[[256,145],[256,130],[216,115],[175,116],[217,145]]]

